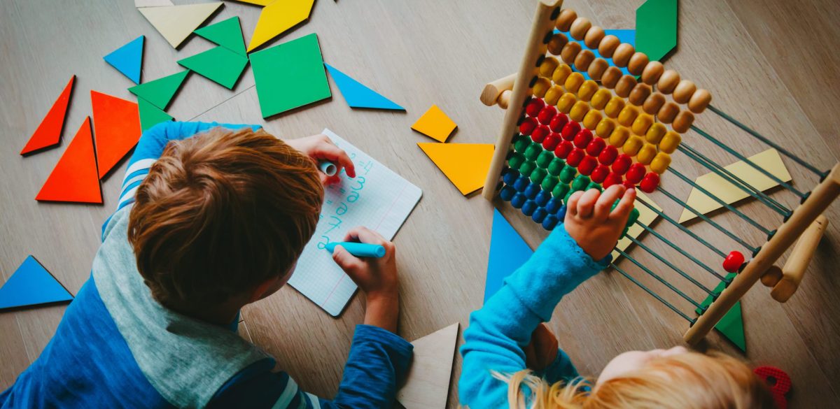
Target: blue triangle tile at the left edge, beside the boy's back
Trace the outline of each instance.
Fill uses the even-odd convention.
[[[0,309],[70,301],[73,296],[33,256],[0,287]]]

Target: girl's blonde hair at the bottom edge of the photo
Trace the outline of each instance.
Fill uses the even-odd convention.
[[[723,354],[690,352],[656,358],[591,391],[585,387],[594,385],[591,380],[549,385],[530,370],[506,380],[509,404],[519,409],[776,407],[764,381],[740,360]]]

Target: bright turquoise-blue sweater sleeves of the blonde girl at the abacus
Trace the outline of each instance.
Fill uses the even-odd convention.
[[[522,349],[531,333],[551,313],[565,294],[603,270],[611,260],[593,261],[559,225],[537,251],[484,307],[470,314],[461,355],[464,365],[458,390],[462,405],[485,409],[508,407],[507,383],[491,375],[512,375],[525,370]],[[578,376],[575,365],[562,350],[543,374],[546,381],[570,381]]]

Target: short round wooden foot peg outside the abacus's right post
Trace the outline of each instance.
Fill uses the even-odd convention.
[[[788,261],[785,262],[785,267],[782,267],[782,278],[770,292],[774,300],[785,303],[796,292],[796,288],[799,288],[802,276],[805,275],[811,257],[814,256],[816,246],[820,244],[822,233],[825,232],[827,226],[828,219],[820,215],[796,241]]]

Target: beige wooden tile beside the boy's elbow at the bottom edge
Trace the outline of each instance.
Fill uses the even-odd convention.
[[[396,400],[406,409],[441,409],[449,396],[449,377],[458,323],[428,334],[412,342],[414,358],[406,384],[396,392]]]

